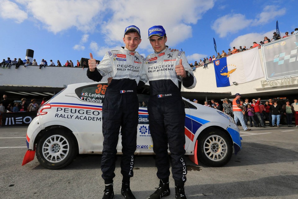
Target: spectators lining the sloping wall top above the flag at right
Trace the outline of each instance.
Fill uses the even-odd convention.
[[[295,28],[295,31],[292,31],[291,35],[295,35],[297,33],[298,33],[298,28]],[[249,49],[253,49],[253,48],[256,48],[256,47],[259,48],[259,47],[261,47],[261,45],[267,44],[267,43],[271,42],[272,40],[283,39],[283,38],[286,38],[286,37],[291,36],[291,35],[289,35],[289,32],[285,32],[285,35],[283,37],[281,37],[276,32],[273,32],[273,36],[272,36],[271,40],[268,37],[264,37],[264,40],[260,41],[260,44],[258,44],[257,42],[254,41],[252,43],[252,46],[250,46],[248,49],[246,48],[246,46],[243,46],[243,48],[242,48],[242,46],[239,46],[239,49],[237,49],[234,46],[232,51],[231,51],[231,49],[228,49],[228,53],[225,53],[224,50],[223,50],[221,54],[217,53],[216,57],[215,57],[215,55],[209,56],[209,58],[204,57],[203,61],[200,59],[200,62],[197,63],[197,61],[195,61],[195,64],[191,63],[190,66],[192,67],[193,71],[195,71],[197,67],[202,67],[203,66],[203,68],[207,68],[208,64],[213,63],[213,61],[216,60],[216,59],[227,57],[229,55],[232,55],[232,54],[235,54],[235,53],[240,53],[240,52],[243,52],[243,51],[246,51],[246,50],[249,50]]]

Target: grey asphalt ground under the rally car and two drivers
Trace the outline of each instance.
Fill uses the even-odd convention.
[[[36,157],[21,166],[26,151],[26,127],[0,127],[0,198],[102,198],[101,155],[79,155],[68,167],[49,170]],[[298,198],[298,128],[241,130],[242,151],[221,168],[193,164],[187,158],[188,199]],[[7,148],[9,147],[9,148]],[[120,194],[120,157],[114,179]],[[158,187],[154,156],[137,156],[131,189],[137,199]],[[170,178],[174,197],[174,180]]]

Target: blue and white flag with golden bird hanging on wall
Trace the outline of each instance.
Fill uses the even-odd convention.
[[[216,86],[225,87],[264,77],[258,48],[213,61]]]

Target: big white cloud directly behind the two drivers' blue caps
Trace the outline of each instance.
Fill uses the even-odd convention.
[[[152,51],[148,41],[148,28],[153,25],[164,25],[168,37],[167,44],[175,46],[179,42],[192,37],[192,24],[196,24],[201,19],[203,13],[207,12],[214,6],[213,1],[188,0],[181,1],[158,1],[151,0],[150,5],[146,1],[134,0],[109,2],[113,16],[104,22],[101,26],[103,33],[106,35],[106,43],[117,41],[123,44],[122,38],[124,29],[128,25],[136,25],[141,30],[142,42],[139,49],[148,49]],[[123,15],[125,13],[125,15]]]

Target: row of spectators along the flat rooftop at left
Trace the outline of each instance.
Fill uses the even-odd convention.
[[[100,61],[97,62],[97,65],[100,63]],[[0,63],[0,67],[2,68],[11,68],[11,66],[15,65],[15,68],[18,69],[21,65],[24,65],[24,67],[27,66],[38,66],[38,63],[36,62],[35,59],[33,59],[33,62],[30,62],[29,59],[27,60],[22,60],[19,58],[18,60],[14,58],[14,60],[11,60],[9,57],[7,60],[3,59],[3,61]],[[77,60],[77,64],[75,65],[71,60],[67,60],[64,65],[61,65],[60,61],[57,60],[57,65],[53,62],[51,59],[49,62],[49,65],[45,59],[42,59],[40,64],[39,64],[39,69],[42,67],[46,66],[64,66],[64,67],[82,67],[82,69],[87,67],[87,63],[84,61],[83,64],[81,65],[79,60]]]

